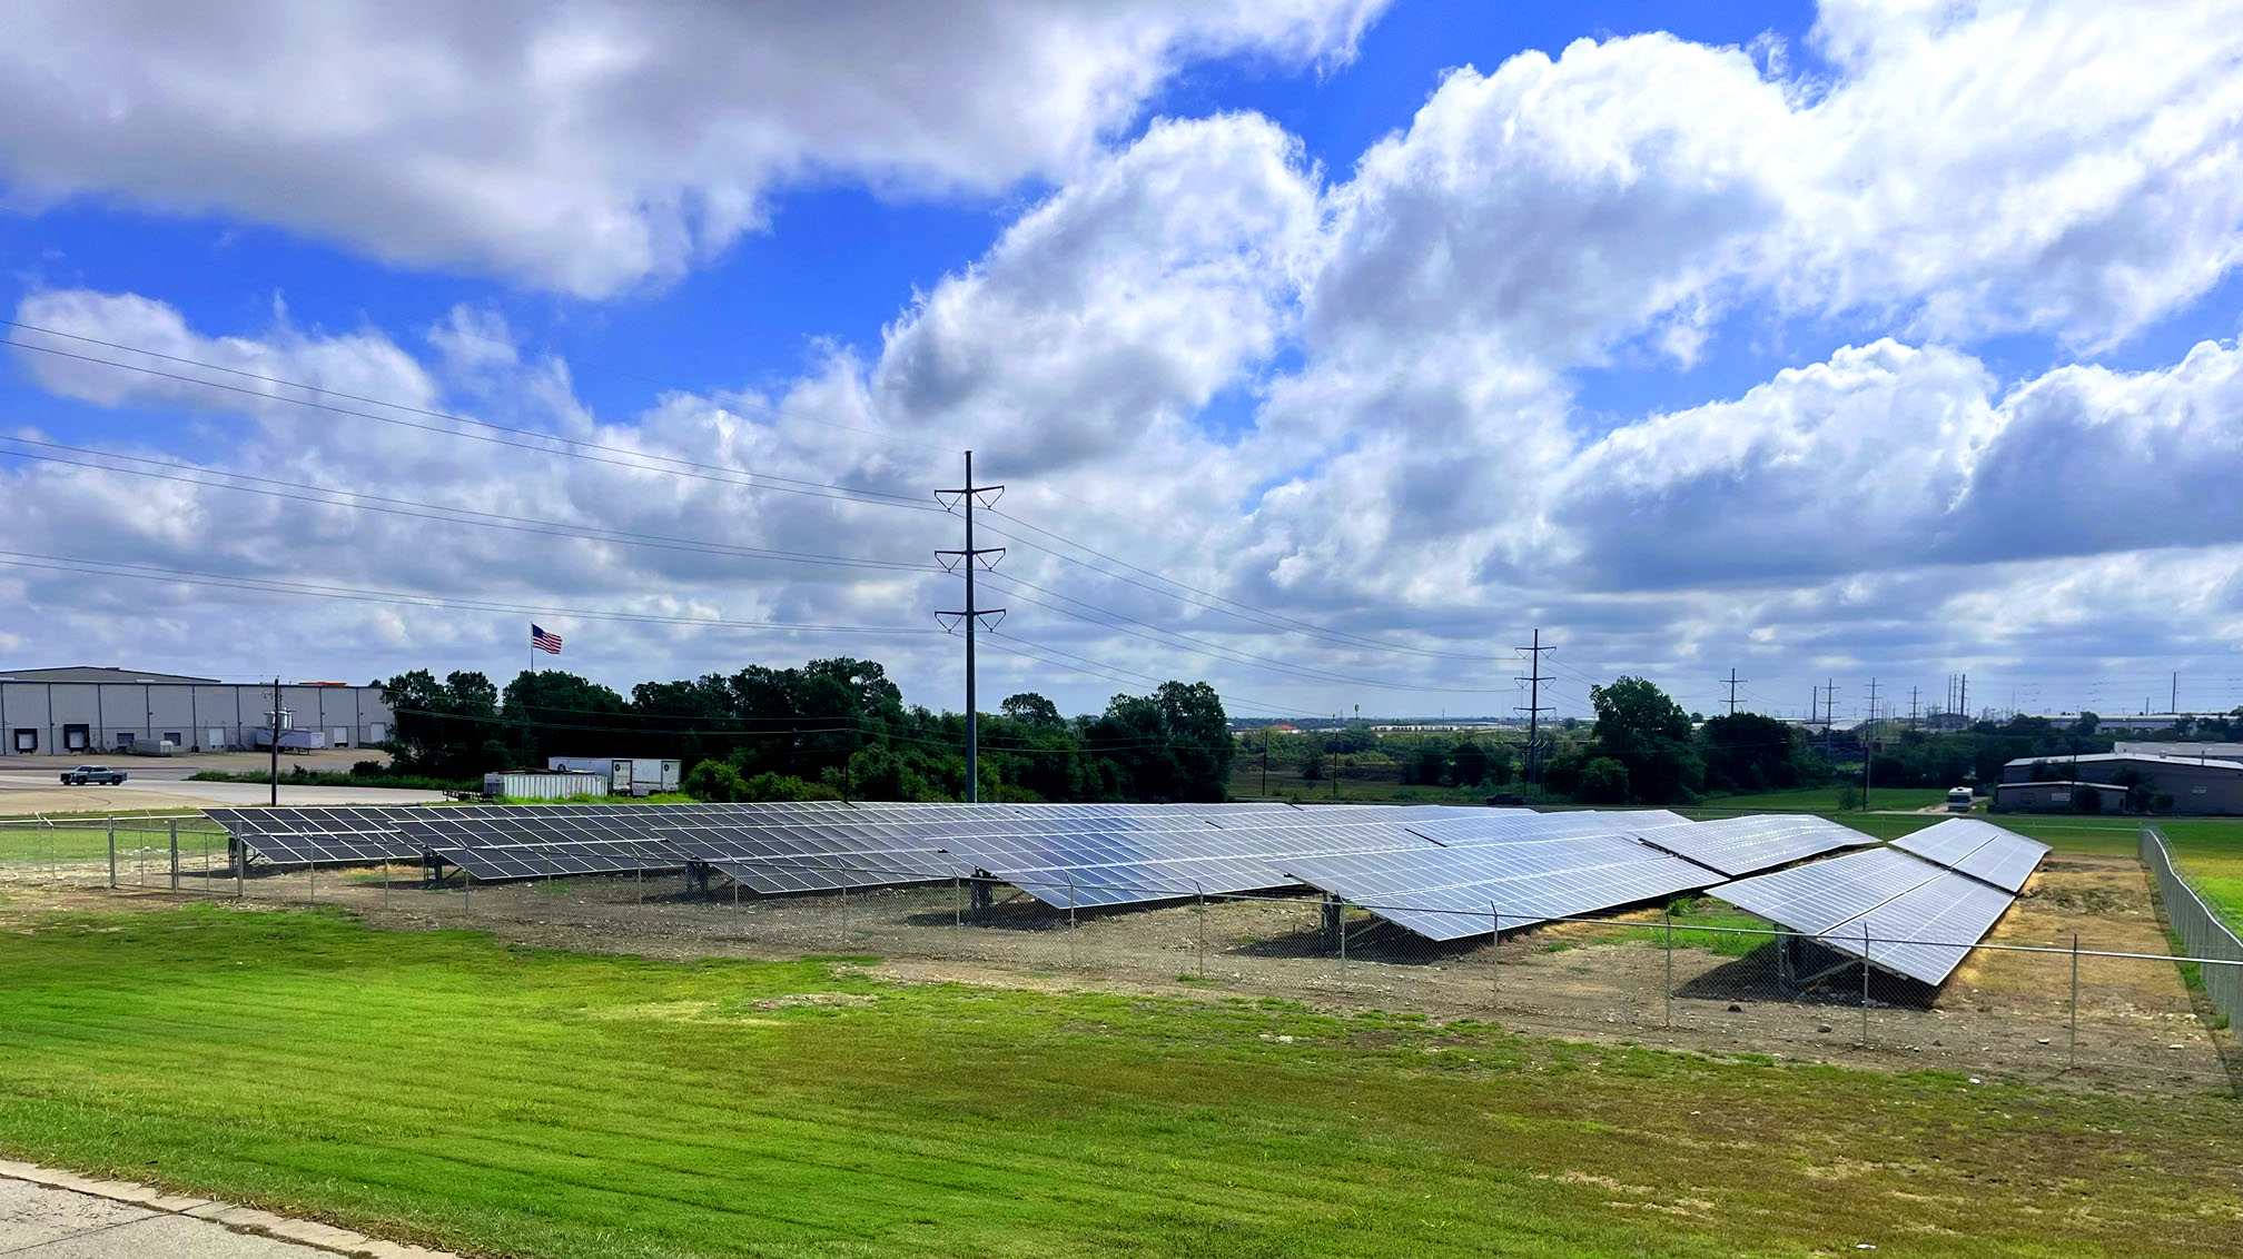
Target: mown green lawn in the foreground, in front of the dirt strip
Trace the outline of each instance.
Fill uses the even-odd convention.
[[[182,907],[0,934],[0,1149],[489,1255],[2236,1255],[2227,1098]]]

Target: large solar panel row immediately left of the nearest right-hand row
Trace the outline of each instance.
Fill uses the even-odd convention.
[[[1671,896],[1709,874],[1615,833],[1285,860],[1285,871],[1420,936],[1453,941]]]

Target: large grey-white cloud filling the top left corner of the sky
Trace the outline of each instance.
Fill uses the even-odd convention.
[[[1182,65],[1350,56],[1379,0],[11,4],[7,197],[220,211],[606,296],[774,186],[1063,179]]]

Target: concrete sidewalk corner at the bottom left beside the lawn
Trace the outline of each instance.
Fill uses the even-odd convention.
[[[455,1259],[343,1228],[177,1199],[0,1158],[0,1255],[9,1259]]]

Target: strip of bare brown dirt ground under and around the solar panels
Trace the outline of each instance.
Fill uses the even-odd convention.
[[[200,854],[197,854],[200,856]],[[188,862],[182,896],[233,898],[231,871]],[[220,856],[222,865],[222,856]],[[119,894],[0,885],[18,914],[43,907],[168,903],[168,860],[128,865]],[[146,878],[146,892],[141,892]],[[563,878],[431,889],[417,867],[267,874],[242,883],[251,905],[345,905],[395,930],[476,927],[514,943],[646,957],[866,957],[897,981],[1157,992],[1189,999],[1292,999],[1330,1010],[1409,1010],[1436,1022],[1494,1019],[1519,1030],[1716,1055],[1951,1071],[2124,1091],[2232,1089],[2232,1033],[2209,1026],[2162,954],[2149,883],[2131,856],[2055,856],[2025,896],[1940,988],[1839,966],[1803,990],[1774,943],[1732,957],[1662,945],[1658,912],[1436,945],[1359,910],[1346,957],[1326,948],[1321,907],[1301,898],[1231,898],[1077,914],[1027,896],[976,923],[964,889],[920,885],[848,896],[738,903],[680,876]],[[2079,966],[2073,1010],[2073,934]],[[2021,952],[2025,948],[2055,952]],[[1734,950],[1741,952],[1741,950]],[[1866,1017],[1864,1017],[1866,1015]]]

